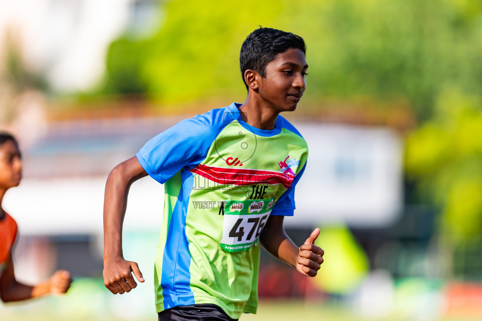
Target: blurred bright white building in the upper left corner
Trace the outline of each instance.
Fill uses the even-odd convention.
[[[158,0],[0,0],[0,61],[20,46],[24,62],[57,92],[101,79],[108,45],[123,32],[148,37],[161,23]]]

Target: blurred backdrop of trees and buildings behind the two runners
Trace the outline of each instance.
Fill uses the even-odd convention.
[[[257,315],[241,320],[482,319],[482,1],[0,0],[0,128],[24,179],[18,279],[72,272],[68,295],[0,305],[1,320],[157,320],[163,186],[136,182],[124,257],[146,278],[102,281],[107,174],[179,120],[245,87],[258,25],[308,45],[308,90],[284,114],[310,148],[285,228],[325,250],[307,279],[262,253]]]

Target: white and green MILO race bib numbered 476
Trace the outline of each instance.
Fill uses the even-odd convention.
[[[273,204],[274,198],[224,202],[221,248],[227,252],[241,252],[257,243]]]

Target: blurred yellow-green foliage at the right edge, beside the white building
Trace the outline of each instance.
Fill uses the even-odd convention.
[[[407,139],[406,170],[443,209],[456,242],[482,234],[482,112],[478,98],[446,92],[434,118]]]

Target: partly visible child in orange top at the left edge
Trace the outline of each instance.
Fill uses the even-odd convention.
[[[3,302],[20,301],[40,295],[66,293],[70,273],[58,270],[48,280],[35,286],[19,283],[13,270],[12,247],[17,237],[17,223],[1,208],[3,196],[22,179],[22,160],[18,143],[12,135],[0,133],[0,298]]]

